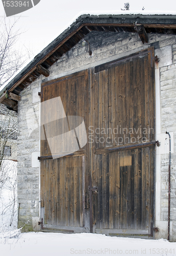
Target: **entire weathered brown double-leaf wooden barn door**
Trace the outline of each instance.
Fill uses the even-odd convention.
[[[64,109],[62,124],[54,101],[41,109],[43,227],[152,237],[154,49],[45,82],[41,92],[41,102],[60,97]],[[69,116],[84,120],[88,141],[82,147],[79,136],[74,143],[65,136],[66,144],[78,142],[79,148],[57,156],[51,150],[57,144],[54,136],[71,130]],[[61,145],[66,148],[57,148]]]

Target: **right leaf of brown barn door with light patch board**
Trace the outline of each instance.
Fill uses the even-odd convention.
[[[95,67],[94,71],[90,94],[93,232],[151,237],[154,49]]]

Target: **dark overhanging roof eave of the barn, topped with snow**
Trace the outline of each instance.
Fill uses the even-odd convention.
[[[142,14],[82,14],[79,16],[75,22],[73,22],[70,27],[63,31],[55,40],[51,42],[46,48],[44,48],[35,58],[28,63],[17,75],[15,75],[10,82],[6,84],[4,88],[0,91],[0,102],[5,98],[5,93],[7,91],[12,92],[13,88],[20,81],[28,77],[35,71],[37,65],[41,65],[48,56],[51,56],[58,46],[62,46],[62,42],[69,40],[74,34],[76,34],[81,28],[86,24],[90,26],[94,25],[119,25],[119,26],[133,26],[134,23],[143,24],[144,26],[153,25],[153,26],[169,26],[176,28],[176,15],[170,14],[156,14],[156,15],[142,15]]]

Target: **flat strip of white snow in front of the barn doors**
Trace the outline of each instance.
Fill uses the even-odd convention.
[[[164,239],[107,237],[103,234],[62,234],[19,230],[0,233],[1,256],[175,255],[176,243]]]

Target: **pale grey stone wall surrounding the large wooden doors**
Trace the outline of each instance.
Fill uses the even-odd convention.
[[[149,34],[149,42],[144,45],[137,33],[91,32],[85,39],[90,43],[92,56],[88,53],[88,45],[86,44],[83,47],[82,41],[79,42],[49,68],[49,77],[45,78],[41,75],[20,94],[21,99],[18,105],[19,226],[29,221],[26,224],[29,228],[39,228],[40,164],[37,156],[40,155],[40,97],[38,92],[40,92],[41,82],[88,69],[107,61],[128,56],[149,46],[154,46],[155,54],[160,58],[160,62],[156,65],[156,134],[161,141],[161,147],[157,148],[156,159],[156,225],[160,230],[156,234],[156,238],[167,238],[168,182],[166,184],[166,173],[168,173],[169,156],[166,131],[171,133],[171,174],[176,178],[176,156],[174,153],[176,152],[176,148],[174,148],[174,145],[176,146],[176,102],[174,100],[176,94],[176,78],[174,78],[174,74],[176,74],[175,36]],[[31,135],[28,131],[29,123],[33,123],[31,129],[35,129],[35,132]],[[174,177],[171,177],[171,189],[176,194]],[[174,194],[171,193],[171,239],[176,241],[176,233],[174,231],[176,227],[176,198]]]

